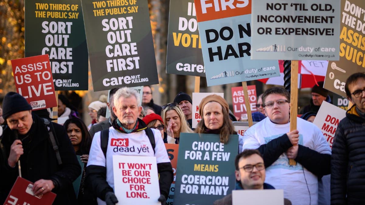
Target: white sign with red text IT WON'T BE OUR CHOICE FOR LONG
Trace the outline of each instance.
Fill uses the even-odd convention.
[[[123,204],[161,204],[154,156],[113,155],[113,173],[114,193]]]

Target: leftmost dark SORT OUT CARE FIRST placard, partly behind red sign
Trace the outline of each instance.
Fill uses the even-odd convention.
[[[49,54],[55,90],[88,90],[80,0],[25,1],[25,57]]]

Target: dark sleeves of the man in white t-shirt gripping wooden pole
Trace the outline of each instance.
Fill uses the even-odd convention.
[[[281,154],[292,147],[288,135],[284,134],[281,137],[271,140],[267,144],[262,144],[258,149],[264,159],[265,167],[272,165]],[[318,178],[330,174],[331,155],[321,154],[306,146],[298,145],[298,154],[295,161],[299,162],[308,171],[315,174]]]

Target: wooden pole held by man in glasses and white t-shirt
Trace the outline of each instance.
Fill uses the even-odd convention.
[[[290,131],[296,130],[298,115],[298,61],[292,61],[290,84]],[[289,159],[289,165],[296,165],[294,159]]]

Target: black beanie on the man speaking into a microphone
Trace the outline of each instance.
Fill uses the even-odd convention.
[[[6,120],[14,113],[31,110],[27,100],[18,93],[8,92],[3,100],[3,117]]]

